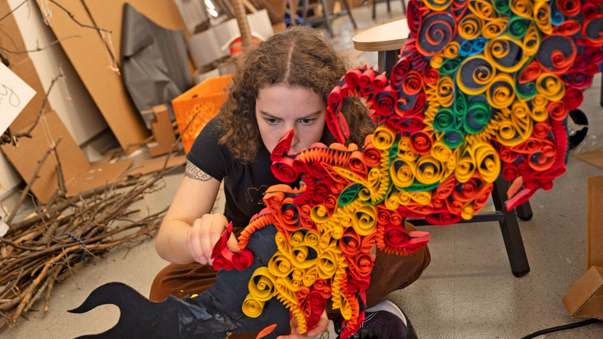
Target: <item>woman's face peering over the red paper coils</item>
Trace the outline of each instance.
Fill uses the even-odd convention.
[[[274,84],[257,92],[256,118],[264,145],[272,153],[280,138],[293,128],[289,152],[319,142],[323,135],[326,104],[308,87]]]

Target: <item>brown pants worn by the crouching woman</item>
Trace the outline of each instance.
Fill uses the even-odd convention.
[[[405,224],[406,232],[417,230],[409,223]],[[427,246],[406,256],[397,256],[382,251],[377,251],[374,262],[371,283],[366,291],[367,308],[373,307],[387,294],[402,290],[412,284],[421,276],[423,270],[431,262],[431,255]],[[170,294],[182,298],[187,294],[201,294],[216,280],[217,272],[210,265],[201,265],[197,262],[186,265],[169,264],[159,271],[153,285],[149,299],[162,302]],[[327,315],[329,318],[339,317],[339,310],[333,311],[332,303],[327,302]],[[257,334],[233,334],[230,339],[253,339]]]

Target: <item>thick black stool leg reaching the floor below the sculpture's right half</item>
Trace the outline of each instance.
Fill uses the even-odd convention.
[[[499,221],[500,232],[507,248],[511,271],[516,277],[520,277],[529,272],[528,256],[523,247],[522,233],[519,230],[515,210],[507,211],[503,206],[504,201],[507,200],[507,189],[507,181],[502,178],[497,179],[492,190],[492,200],[496,211],[505,215],[505,220]]]

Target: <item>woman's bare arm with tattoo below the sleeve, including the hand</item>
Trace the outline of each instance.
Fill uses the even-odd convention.
[[[224,215],[209,214],[219,187],[218,180],[186,163],[185,177],[157,234],[155,249],[161,258],[175,264],[209,262],[208,253],[227,224]],[[236,241],[229,241],[229,247],[236,248]]]

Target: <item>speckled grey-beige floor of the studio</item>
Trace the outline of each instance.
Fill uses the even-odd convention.
[[[402,14],[392,1],[392,13],[385,4],[377,7],[379,20]],[[368,8],[353,12],[359,26],[373,24]],[[357,32],[346,17],[334,22],[336,36],[350,46]],[[365,53],[369,65],[375,53]],[[603,131],[603,108],[598,106],[599,74],[586,90],[581,109],[589,117],[589,133]],[[599,138],[600,139],[600,138]],[[169,204],[182,171],[166,177],[166,188],[139,201],[140,206],[162,208]],[[511,274],[497,223],[428,226],[432,262],[423,276],[388,299],[396,302],[411,319],[421,339],[521,338],[551,326],[575,322],[567,315],[561,297],[586,271],[586,179],[603,175],[603,170],[569,157],[567,173],[555,180],[551,191],[538,191],[531,200],[534,217],[520,221],[520,229],[531,271],[517,278]],[[218,204],[223,204],[218,200]],[[102,332],[119,317],[115,306],[101,306],[83,315],[69,314],[101,284],[121,281],[148,295],[154,275],[167,263],[157,256],[154,242],[131,249],[119,249],[104,258],[93,259],[73,279],[55,287],[51,309],[42,315],[27,314],[16,328],[2,332],[2,338],[72,338]],[[603,323],[557,332],[546,338],[603,338]]]

